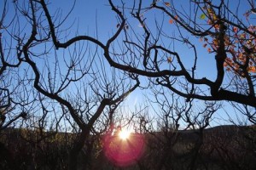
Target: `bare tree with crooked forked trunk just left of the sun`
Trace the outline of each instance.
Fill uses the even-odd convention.
[[[13,41],[9,50],[10,54],[17,52],[18,64],[14,66],[18,67],[21,63],[26,65],[27,72],[32,72],[29,75],[19,75],[29,77],[32,86],[26,88],[31,88],[42,96],[37,98],[43,110],[43,115],[39,115],[36,120],[40,138],[33,143],[38,144],[40,140],[48,138],[48,134],[44,135],[46,116],[56,116],[57,112],[61,117],[66,116],[67,121],[76,127],[78,133],[69,152],[68,167],[77,169],[79,153],[84,144],[90,142],[90,135],[102,133],[107,129],[114,111],[128,94],[139,87],[140,82],[135,74],[117,72],[109,68],[103,60],[102,48],[97,47],[101,42],[94,38],[82,37],[80,40],[84,39],[85,42],[71,40],[70,43],[67,40],[67,43],[63,43],[66,47],[62,43],[59,47],[60,42],[56,40],[56,34],[62,30],[56,31],[55,28],[58,28],[57,25],[61,26],[65,17],[54,23],[52,20],[55,19],[49,14],[44,1],[28,1],[25,4],[26,1],[13,2],[11,9],[15,11],[15,21],[11,22],[10,29],[3,29],[3,37]],[[62,17],[58,14],[57,16]],[[17,23],[18,27],[15,27]],[[23,26],[24,29],[21,29]],[[68,37],[64,35],[63,38]],[[2,71],[7,64],[3,55],[1,56]],[[7,101],[9,102],[9,99]],[[48,111],[48,101],[55,110]],[[55,123],[56,130],[61,122],[57,119]],[[107,127],[102,129],[101,124]],[[91,149],[89,145],[87,148]],[[85,153],[88,154],[89,151]]]

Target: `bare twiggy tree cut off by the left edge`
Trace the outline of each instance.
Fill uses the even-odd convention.
[[[27,70],[19,69],[22,60],[19,43],[14,48],[15,42],[5,37],[5,31],[14,29],[17,20],[14,16],[8,16],[8,1],[3,1],[1,8],[3,12],[0,18],[0,131],[20,117],[26,118],[27,110],[33,101],[29,99],[31,91],[25,88],[28,83],[25,76]],[[17,32],[11,35],[14,39],[17,38],[15,33]]]

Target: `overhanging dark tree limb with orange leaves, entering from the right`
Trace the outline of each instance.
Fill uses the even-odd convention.
[[[241,2],[237,3],[240,5]],[[104,48],[110,65],[153,77],[156,85],[166,87],[188,101],[227,100],[256,106],[255,26],[248,3],[243,3],[247,4],[245,11],[241,11],[240,6],[234,8],[228,1],[114,4],[110,0],[109,4],[118,16],[119,28],[107,45],[99,45]],[[242,13],[246,15],[243,19]],[[131,23],[134,20],[142,27],[142,33]],[[175,33],[172,34],[172,30]],[[125,40],[118,38],[121,34],[125,34]],[[113,40],[121,44],[125,56],[110,51],[108,44]],[[198,44],[197,41],[202,42]],[[202,52],[202,46],[208,47],[208,54]],[[183,54],[185,48],[188,54]],[[213,58],[209,65],[214,69],[211,71],[214,77],[207,72],[198,76],[197,70],[203,65],[201,55]],[[188,58],[189,65],[185,62]],[[231,78],[226,77],[229,71]]]

